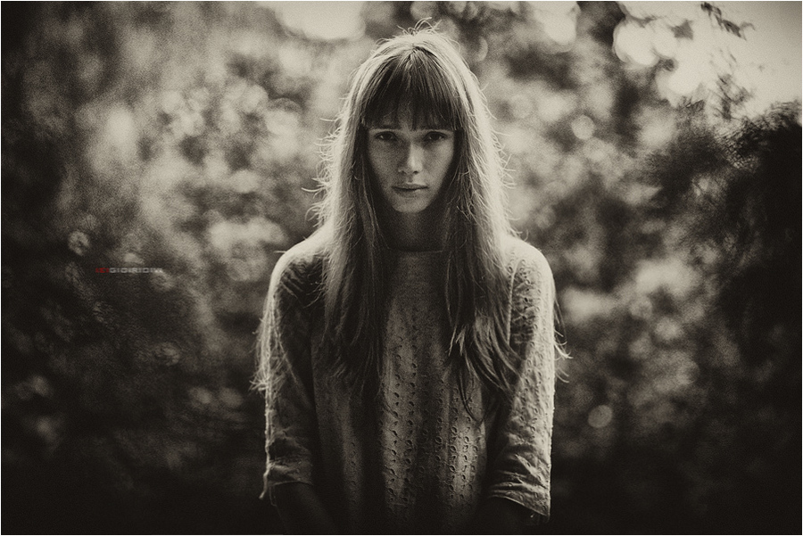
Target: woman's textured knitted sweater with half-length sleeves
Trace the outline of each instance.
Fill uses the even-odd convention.
[[[462,532],[490,497],[549,515],[554,283],[534,247],[511,238],[506,250],[509,342],[521,359],[512,404],[491,412],[478,382],[466,408],[446,363],[442,253],[398,254],[371,408],[321,366],[319,246],[282,256],[265,319],[266,491],[311,484],[349,532]]]

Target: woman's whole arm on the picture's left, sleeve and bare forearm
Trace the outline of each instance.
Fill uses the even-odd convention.
[[[314,281],[314,279],[313,279]],[[310,359],[310,272],[288,252],[277,262],[261,330],[270,495],[290,533],[334,534],[335,524],[313,478],[319,436]]]

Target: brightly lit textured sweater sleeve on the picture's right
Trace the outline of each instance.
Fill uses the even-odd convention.
[[[541,252],[526,246],[511,284],[510,344],[519,355],[513,400],[493,437],[488,497],[510,499],[550,515],[552,416],[555,395],[555,286]]]

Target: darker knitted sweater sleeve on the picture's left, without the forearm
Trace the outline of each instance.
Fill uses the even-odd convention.
[[[267,469],[264,491],[286,482],[313,483],[318,449],[310,364],[308,276],[285,254],[274,269],[265,308]]]

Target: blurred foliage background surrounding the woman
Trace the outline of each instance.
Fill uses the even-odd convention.
[[[4,532],[280,531],[261,301],[312,230],[349,73],[426,17],[480,78],[559,287],[542,529],[796,532],[799,103],[667,102],[671,62],[614,50],[633,9],[376,2],[327,41],[269,4],[4,3]]]

